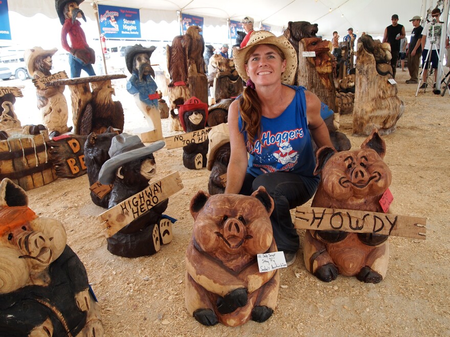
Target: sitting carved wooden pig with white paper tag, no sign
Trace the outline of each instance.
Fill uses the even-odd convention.
[[[186,252],[186,306],[204,325],[264,322],[277,302],[278,270],[260,273],[256,255],[277,251],[264,187],[252,196],[199,191],[191,200],[192,239]]]

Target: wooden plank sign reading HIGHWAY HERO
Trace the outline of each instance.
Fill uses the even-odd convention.
[[[154,205],[169,198],[183,188],[178,172],[171,173],[143,189],[134,196],[101,213],[98,219],[107,229],[106,237],[113,236],[131,221],[138,218]]]

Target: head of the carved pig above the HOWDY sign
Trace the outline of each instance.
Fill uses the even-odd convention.
[[[314,173],[321,171],[321,187],[332,199],[364,199],[381,195],[391,184],[392,178],[389,167],[383,161],[385,153],[384,140],[373,132],[363,142],[361,150],[334,153],[331,148],[319,149]]]

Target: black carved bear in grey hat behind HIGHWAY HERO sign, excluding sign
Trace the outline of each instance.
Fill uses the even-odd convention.
[[[144,146],[138,136],[126,133],[111,140],[108,159],[99,173],[100,183],[113,184],[108,208],[137,194],[149,185],[156,174],[153,152],[164,147],[164,141]],[[169,199],[163,200],[131,221],[113,236],[108,237],[108,251],[124,257],[139,257],[158,252],[161,244],[172,240],[172,226],[162,214]]]

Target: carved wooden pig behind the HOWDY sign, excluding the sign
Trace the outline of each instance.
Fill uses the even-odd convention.
[[[377,131],[360,150],[319,149],[314,174],[320,173],[321,181],[311,206],[383,212],[379,200],[391,184],[385,153],[386,144]],[[303,256],[306,269],[322,281],[342,274],[378,283],[388,269],[388,236],[307,230]]]

